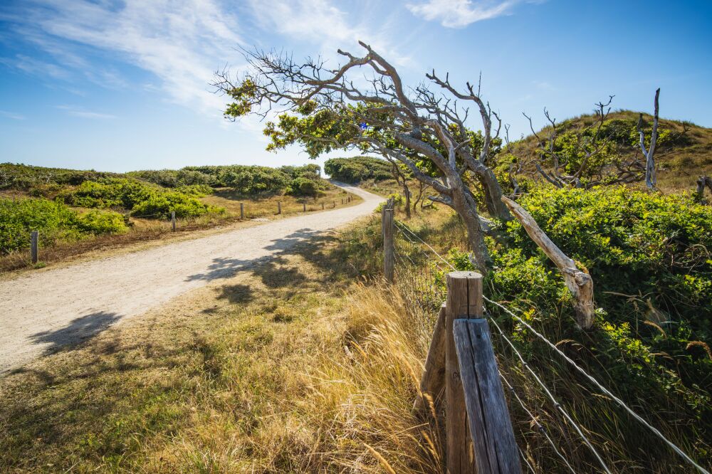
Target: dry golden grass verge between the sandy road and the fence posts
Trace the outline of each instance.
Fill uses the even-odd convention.
[[[0,472],[431,473],[429,339],[317,239],[0,380]]]

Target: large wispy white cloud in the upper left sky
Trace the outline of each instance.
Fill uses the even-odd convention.
[[[115,70],[93,64],[80,52],[83,47],[117,53],[138,67],[157,75],[161,88],[175,102],[214,114],[224,101],[212,94],[212,73],[235,56],[241,44],[234,16],[216,0],[37,0],[13,18],[20,33],[63,65],[81,69],[95,83],[125,87]],[[72,42],[62,45],[58,40]],[[74,44],[73,44],[74,43]],[[33,69],[27,61],[26,70]],[[16,65],[20,68],[20,65]],[[56,75],[60,70],[54,71]]]

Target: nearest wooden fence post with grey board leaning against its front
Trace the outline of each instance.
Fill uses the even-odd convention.
[[[450,473],[522,472],[489,326],[482,275],[447,275],[445,394]]]

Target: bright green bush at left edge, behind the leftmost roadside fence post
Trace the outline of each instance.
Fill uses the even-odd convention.
[[[3,255],[28,248],[31,231],[39,231],[41,243],[47,245],[127,230],[122,216],[115,212],[79,214],[58,201],[0,198],[0,254]]]

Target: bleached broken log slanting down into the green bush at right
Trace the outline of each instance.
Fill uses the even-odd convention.
[[[574,310],[576,322],[582,329],[589,329],[593,325],[593,279],[591,275],[576,268],[576,263],[567,257],[549,236],[538,226],[534,218],[522,206],[507,197],[502,197],[515,218],[522,224],[530,238],[544,251],[546,256],[555,263],[564,277],[566,288],[574,297]]]

